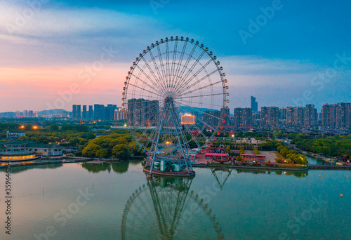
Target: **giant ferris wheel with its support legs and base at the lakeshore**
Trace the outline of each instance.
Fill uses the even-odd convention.
[[[164,159],[173,172],[191,173],[191,159],[227,125],[227,79],[212,51],[178,36],[147,46],[128,71],[122,107],[150,174]],[[208,134],[211,132],[211,134]],[[157,163],[155,163],[157,161]]]

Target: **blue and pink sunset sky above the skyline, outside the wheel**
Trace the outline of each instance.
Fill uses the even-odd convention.
[[[350,1],[0,0],[0,112],[117,104],[146,46],[216,53],[230,109],[351,102]]]

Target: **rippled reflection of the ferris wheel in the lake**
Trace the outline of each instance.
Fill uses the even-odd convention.
[[[124,208],[122,239],[224,239],[216,214],[190,190],[192,178],[147,178]]]

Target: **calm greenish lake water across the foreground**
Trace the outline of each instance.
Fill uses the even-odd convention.
[[[11,236],[1,171],[0,239],[351,239],[350,171],[195,168],[192,180],[149,180],[142,169],[13,168]]]

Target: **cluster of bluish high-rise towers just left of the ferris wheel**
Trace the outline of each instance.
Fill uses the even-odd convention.
[[[122,109],[117,105],[72,105],[72,119],[119,121],[125,119]]]

